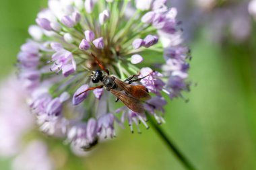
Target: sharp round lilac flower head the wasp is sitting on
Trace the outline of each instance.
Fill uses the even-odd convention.
[[[104,89],[86,91],[102,66],[117,79],[141,78],[135,84],[151,95],[141,101],[143,110],[164,122],[163,94],[173,99],[189,90],[189,48],[176,17],[166,0],[49,0],[18,54],[20,79],[40,129],[88,150],[101,136],[115,136],[115,123],[127,120],[132,132],[139,122],[148,128],[146,113],[118,108]]]

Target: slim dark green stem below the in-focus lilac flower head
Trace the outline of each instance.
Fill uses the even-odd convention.
[[[170,148],[170,151],[174,153],[174,155],[183,163],[183,165],[189,169],[189,170],[195,170],[195,167],[188,161],[188,159],[179,151],[177,146],[173,144],[172,140],[166,136],[166,134],[163,132],[163,130],[159,127],[159,125],[152,119],[152,117],[147,113],[148,120],[150,124],[152,125],[152,128],[156,130],[157,134],[162,138],[162,140],[165,142],[165,144]]]

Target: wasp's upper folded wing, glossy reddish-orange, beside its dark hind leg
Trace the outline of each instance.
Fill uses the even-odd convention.
[[[129,85],[128,83],[125,83],[117,78],[115,78],[114,81],[119,90],[126,91],[140,101],[146,101],[151,98],[150,94],[148,93],[148,89],[143,85]]]

